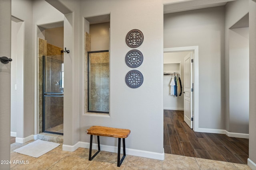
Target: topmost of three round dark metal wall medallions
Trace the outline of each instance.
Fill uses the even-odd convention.
[[[142,32],[138,29],[132,29],[126,35],[126,44],[131,48],[139,47],[144,40]]]

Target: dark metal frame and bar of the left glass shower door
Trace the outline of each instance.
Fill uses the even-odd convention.
[[[46,131],[45,129],[45,97],[64,97],[64,93],[52,93],[52,92],[45,92],[45,62],[46,62],[46,59],[45,59],[45,55],[42,56],[42,97],[43,97],[43,100],[42,100],[42,131],[43,133],[53,133],[53,134],[57,134],[57,135],[63,135],[63,133],[60,133],[60,132],[52,132],[52,131]]]

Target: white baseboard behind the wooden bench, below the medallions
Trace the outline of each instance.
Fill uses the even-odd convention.
[[[78,149],[79,147],[89,149],[90,148],[90,143],[88,143],[88,142],[78,142],[73,146],[71,146],[71,145],[62,145],[62,150],[73,152],[76,149]],[[93,143],[92,144],[92,149],[98,150],[98,144]],[[108,146],[108,145],[100,145],[100,150],[117,153],[118,147]],[[122,153],[122,150],[123,150],[123,148],[121,147],[121,153]],[[157,152],[149,152],[149,151],[145,151],[145,150],[137,150],[137,149],[126,148],[126,154],[133,155],[133,156],[152,158],[152,159],[158,159],[158,160],[164,160],[164,150],[163,150],[163,153],[157,153]]]

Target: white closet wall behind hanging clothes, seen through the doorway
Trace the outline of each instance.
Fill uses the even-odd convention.
[[[184,57],[190,55],[191,52],[172,52],[164,53],[164,63],[180,63],[180,78],[182,86],[184,85]],[[165,65],[164,65],[165,70]],[[164,76],[163,81],[163,98],[164,109],[184,110],[184,94],[178,97],[170,95],[170,81],[172,76]],[[182,88],[182,91],[184,89]]]

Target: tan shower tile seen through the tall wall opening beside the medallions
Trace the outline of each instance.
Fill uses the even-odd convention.
[[[90,94],[88,95],[88,51],[91,51],[90,34],[85,32],[85,112],[90,110],[109,111],[109,52],[90,53]]]

